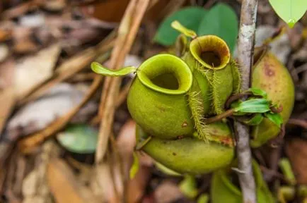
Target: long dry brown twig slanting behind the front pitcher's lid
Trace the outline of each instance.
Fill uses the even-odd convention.
[[[118,30],[117,41],[112,50],[110,68],[118,69],[124,63],[124,58],[132,47],[141,19],[144,16],[149,0],[132,0],[124,13],[120,28]],[[120,89],[120,78],[105,78],[102,99],[100,101],[100,112],[102,119],[98,136],[95,161],[99,163],[103,160],[108,147],[112,123],[115,113],[115,97]]]

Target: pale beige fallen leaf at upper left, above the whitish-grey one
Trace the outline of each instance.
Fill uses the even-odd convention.
[[[54,44],[42,49],[35,56],[28,56],[18,61],[14,76],[18,99],[23,98],[33,87],[52,76],[60,51],[60,44]]]

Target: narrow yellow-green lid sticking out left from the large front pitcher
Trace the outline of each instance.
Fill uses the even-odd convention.
[[[93,62],[91,68],[95,73],[105,76],[124,76],[137,71],[137,68],[134,66],[127,66],[120,70],[111,70],[97,62]]]

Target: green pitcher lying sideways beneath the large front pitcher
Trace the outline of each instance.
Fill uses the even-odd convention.
[[[231,130],[226,123],[208,125],[208,133],[216,140],[229,143]],[[142,149],[155,161],[180,174],[204,174],[231,164],[234,157],[233,146],[219,142],[204,142],[195,137],[166,140],[150,136],[137,125],[137,149]]]

